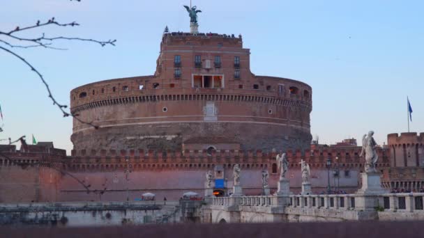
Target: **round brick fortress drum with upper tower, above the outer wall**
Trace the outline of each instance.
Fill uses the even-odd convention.
[[[312,88],[255,76],[241,37],[166,33],[155,75],[70,93],[76,150],[310,148]]]

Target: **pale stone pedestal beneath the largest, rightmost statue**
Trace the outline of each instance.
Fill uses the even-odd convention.
[[[363,211],[374,211],[375,207],[383,207],[379,201],[379,195],[388,193],[381,187],[380,174],[376,172],[361,173],[362,188],[356,192],[355,207]]]

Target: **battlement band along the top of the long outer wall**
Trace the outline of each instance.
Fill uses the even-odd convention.
[[[332,164],[342,167],[363,166],[364,159],[359,157],[361,148],[351,150],[287,150],[287,157],[292,166],[297,167],[301,160],[305,160],[311,167],[324,167],[326,160],[330,158]],[[388,150],[377,149],[379,154],[379,166],[388,166]],[[185,164],[198,168],[210,168],[215,164],[262,164],[271,166],[275,164],[276,152],[262,152],[262,150],[184,150],[184,151],[156,151],[156,150],[73,150],[72,156],[68,157],[68,165],[73,169],[82,168],[78,164],[93,164],[94,167],[101,168],[102,164],[117,164],[116,168],[125,168],[127,164],[139,165],[143,168],[148,165],[156,168],[163,168],[166,164]],[[70,162],[70,163],[69,163]],[[97,165],[96,165],[97,164]],[[121,165],[119,165],[121,164]],[[97,166],[97,167],[96,167]],[[161,167],[162,166],[162,167]],[[165,168],[169,168],[166,166]],[[113,167],[113,166],[112,166]],[[152,167],[152,168],[153,168]],[[184,166],[180,166],[184,167]],[[243,167],[243,166],[242,166]]]

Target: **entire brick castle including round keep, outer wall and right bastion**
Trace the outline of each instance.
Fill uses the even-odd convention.
[[[71,111],[99,127],[74,119],[70,156],[52,143],[20,150],[0,145],[0,203],[135,200],[144,192],[177,200],[186,191],[204,193],[209,170],[214,193],[224,195],[233,186],[235,164],[241,166],[243,192],[257,195],[262,170],[276,190],[280,150],[287,152],[295,192],[302,159],[310,164],[315,193],[328,182],[334,190],[360,185],[361,148],[311,148],[312,88],[250,72],[250,50],[241,35],[165,32],[156,63],[153,75],[98,81],[70,92]],[[377,164],[386,189],[423,187],[423,138],[388,135]]]

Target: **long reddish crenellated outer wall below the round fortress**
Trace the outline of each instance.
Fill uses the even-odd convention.
[[[288,175],[293,191],[300,191],[301,188],[301,159],[311,166],[315,191],[324,191],[327,186],[328,170],[325,163],[328,157],[333,161],[331,186],[340,184],[340,189],[354,191],[363,167],[363,159],[358,157],[360,149],[288,150]],[[379,154],[382,153],[379,150]],[[205,173],[217,166],[224,173],[223,191],[229,193],[233,186],[232,170],[235,164],[241,165],[243,191],[248,195],[262,192],[262,170],[268,170],[273,192],[277,189],[279,178],[275,152],[262,150],[220,150],[211,151],[210,154],[206,150],[73,150],[70,157],[52,152],[15,151],[6,154],[18,163],[28,163],[29,166],[22,167],[0,159],[2,190],[7,191],[8,195],[0,196],[3,202],[135,200],[145,192],[156,193],[158,200],[176,200],[187,191],[203,194]],[[388,166],[388,158],[382,155],[381,158],[379,166]],[[336,167],[340,169],[340,177],[333,174]],[[22,189],[22,186],[30,189]]]

